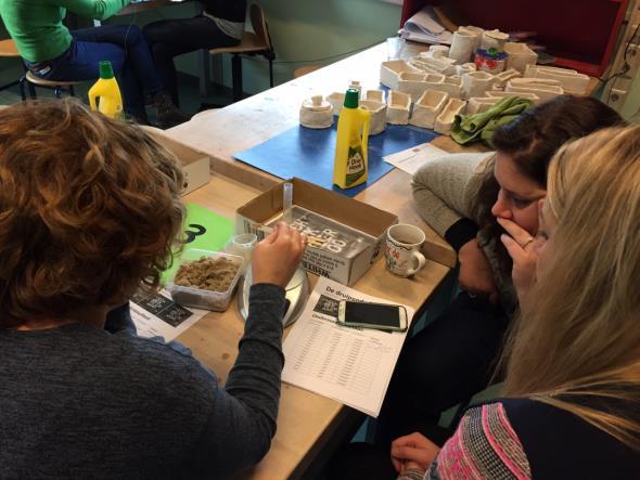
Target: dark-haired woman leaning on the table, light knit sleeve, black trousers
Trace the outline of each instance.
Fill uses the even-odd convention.
[[[497,152],[448,155],[415,173],[413,197],[423,219],[458,251],[462,291],[407,342],[380,416],[381,446],[413,431],[443,442],[449,432],[437,428],[440,413],[489,385],[519,308],[496,218],[513,221],[533,242],[555,152],[620,122],[598,100],[559,96],[497,130]]]

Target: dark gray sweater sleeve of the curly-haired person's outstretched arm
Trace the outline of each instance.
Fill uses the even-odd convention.
[[[249,312],[238,359],[214,405],[189,460],[191,477],[226,478],[256,464],[276,434],[282,354],[284,290],[252,286]]]

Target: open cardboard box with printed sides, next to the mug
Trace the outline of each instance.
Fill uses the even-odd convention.
[[[361,233],[367,245],[356,255],[345,257],[309,245],[303,257],[303,265],[309,272],[353,285],[382,257],[386,230],[398,222],[398,217],[297,178],[290,182],[293,183],[294,206],[342,224],[350,232]],[[238,233],[255,233],[263,237],[270,230],[268,225],[282,215],[283,183],[238,209]]]

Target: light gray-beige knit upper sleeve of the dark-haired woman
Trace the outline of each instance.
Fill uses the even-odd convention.
[[[462,218],[471,218],[473,199],[494,155],[451,154],[423,165],[411,186],[420,216],[440,236]]]

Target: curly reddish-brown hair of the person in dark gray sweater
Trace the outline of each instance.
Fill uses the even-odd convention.
[[[157,287],[182,182],[140,127],[73,99],[0,109],[0,328]]]

